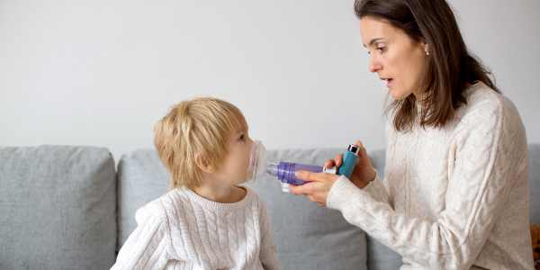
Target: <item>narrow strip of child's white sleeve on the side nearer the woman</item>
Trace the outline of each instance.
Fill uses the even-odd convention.
[[[275,247],[274,234],[272,232],[272,220],[270,220],[270,215],[266,211],[265,202],[260,199],[262,203],[261,208],[261,252],[259,254],[259,259],[264,269],[276,269],[283,270],[281,262],[279,261],[279,256],[277,255],[277,248]]]

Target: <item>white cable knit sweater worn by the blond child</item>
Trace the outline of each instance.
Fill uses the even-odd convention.
[[[240,202],[175,189],[135,214],[139,226],[112,269],[282,269],[270,216],[247,186]]]

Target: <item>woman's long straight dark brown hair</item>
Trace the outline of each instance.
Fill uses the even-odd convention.
[[[454,13],[445,0],[356,0],[359,19],[370,17],[403,31],[411,40],[428,44],[429,55],[419,81],[426,94],[419,112],[421,127],[443,127],[456,118],[455,110],[467,103],[467,84],[478,81],[494,91],[499,89],[489,77],[491,72],[465,46]],[[386,112],[393,113],[396,130],[412,129],[417,99],[414,94],[394,101]]]

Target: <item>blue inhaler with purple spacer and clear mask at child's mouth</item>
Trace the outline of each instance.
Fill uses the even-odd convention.
[[[329,173],[345,175],[347,178],[351,177],[353,169],[358,160],[359,148],[355,145],[350,145],[347,148],[345,156],[343,157],[343,164],[336,172],[336,166],[327,169],[324,166],[306,165],[293,162],[281,161],[279,164],[266,162],[266,148],[260,140],[254,140],[249,149],[249,166],[247,168],[247,183],[255,183],[257,178],[262,175],[274,175],[282,185],[284,192],[290,193],[289,184],[302,185],[308,182],[303,181],[296,177],[294,173],[296,171],[310,171],[314,173]]]

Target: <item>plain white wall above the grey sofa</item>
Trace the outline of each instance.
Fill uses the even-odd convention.
[[[0,0],[0,146],[153,148],[186,98],[244,112],[266,148],[384,148],[386,87],[353,0]],[[465,40],[540,142],[540,1],[452,0]]]

